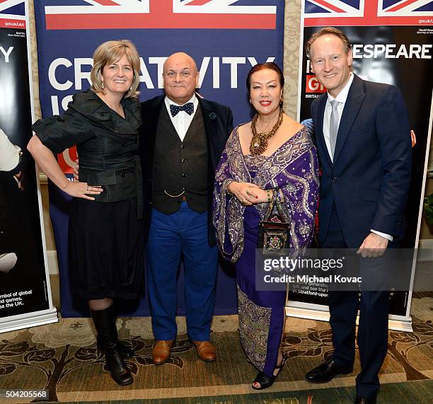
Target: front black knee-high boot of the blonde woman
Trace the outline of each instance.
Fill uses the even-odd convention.
[[[117,349],[117,328],[113,307],[91,310],[91,314],[100,343],[105,350],[105,362],[110,369],[112,379],[120,386],[131,384],[132,374]]]

